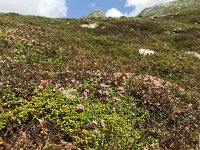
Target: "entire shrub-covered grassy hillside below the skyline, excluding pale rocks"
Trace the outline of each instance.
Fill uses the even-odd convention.
[[[0,14],[0,148],[198,149],[198,14]]]

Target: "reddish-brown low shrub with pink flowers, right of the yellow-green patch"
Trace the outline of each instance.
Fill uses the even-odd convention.
[[[190,147],[185,145],[198,143],[194,138],[198,136],[200,125],[198,99],[191,101],[191,95],[178,85],[150,75],[136,76],[128,82],[139,84],[137,91],[136,87],[129,86],[130,90],[140,99],[137,106],[149,112],[146,122],[146,128],[151,130],[149,134],[153,133],[161,145],[168,145],[163,148],[188,149]]]

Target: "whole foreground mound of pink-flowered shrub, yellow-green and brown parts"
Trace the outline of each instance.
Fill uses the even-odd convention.
[[[199,111],[183,89],[150,75],[118,73],[103,80],[95,73],[66,87],[41,80],[31,101],[2,84],[0,128],[50,121],[65,133],[66,142],[83,149],[170,149],[176,146],[173,140],[182,148],[195,145]],[[41,134],[49,133],[41,127]]]

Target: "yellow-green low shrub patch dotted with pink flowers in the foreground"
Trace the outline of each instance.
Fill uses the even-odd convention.
[[[146,129],[137,127],[145,123],[148,111],[135,106],[134,97],[121,95],[125,94],[122,87],[102,87],[101,79],[94,77],[91,75],[82,83],[75,80],[65,88],[42,80],[30,101],[2,88],[0,129],[37,120],[39,134],[48,137],[51,129],[45,122],[52,122],[54,128],[64,132],[62,140],[81,149],[141,149],[152,144],[158,147],[156,138],[149,135],[143,139]]]

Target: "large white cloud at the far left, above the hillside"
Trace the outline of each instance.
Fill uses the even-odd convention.
[[[0,12],[62,18],[67,6],[65,0],[0,0]]]

